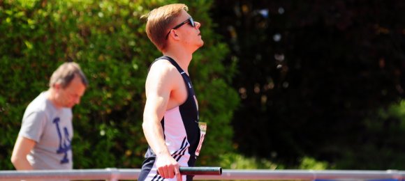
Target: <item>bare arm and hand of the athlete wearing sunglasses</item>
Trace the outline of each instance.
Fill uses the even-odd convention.
[[[142,128],[149,146],[156,154],[156,166],[163,178],[181,180],[179,164],[172,158],[168,147],[165,145],[161,119],[170,102],[170,93],[173,91],[175,74],[170,71],[168,63],[156,62],[149,70],[146,81],[147,101],[143,114]],[[177,73],[178,74],[178,73]]]

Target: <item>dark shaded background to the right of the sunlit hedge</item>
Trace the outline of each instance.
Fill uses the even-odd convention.
[[[237,150],[405,168],[405,1],[215,1],[237,60]]]

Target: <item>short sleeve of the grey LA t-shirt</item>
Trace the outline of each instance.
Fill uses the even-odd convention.
[[[43,111],[29,113],[29,115],[22,120],[20,133],[18,135],[38,142],[45,129],[45,122],[46,116]]]

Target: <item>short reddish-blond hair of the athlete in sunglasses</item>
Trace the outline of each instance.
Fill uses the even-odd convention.
[[[147,18],[146,33],[149,40],[163,52],[167,46],[165,38],[168,31],[173,26],[176,17],[179,17],[182,10],[188,11],[189,8],[183,3],[173,3],[159,8],[155,8],[147,15],[142,16]]]

